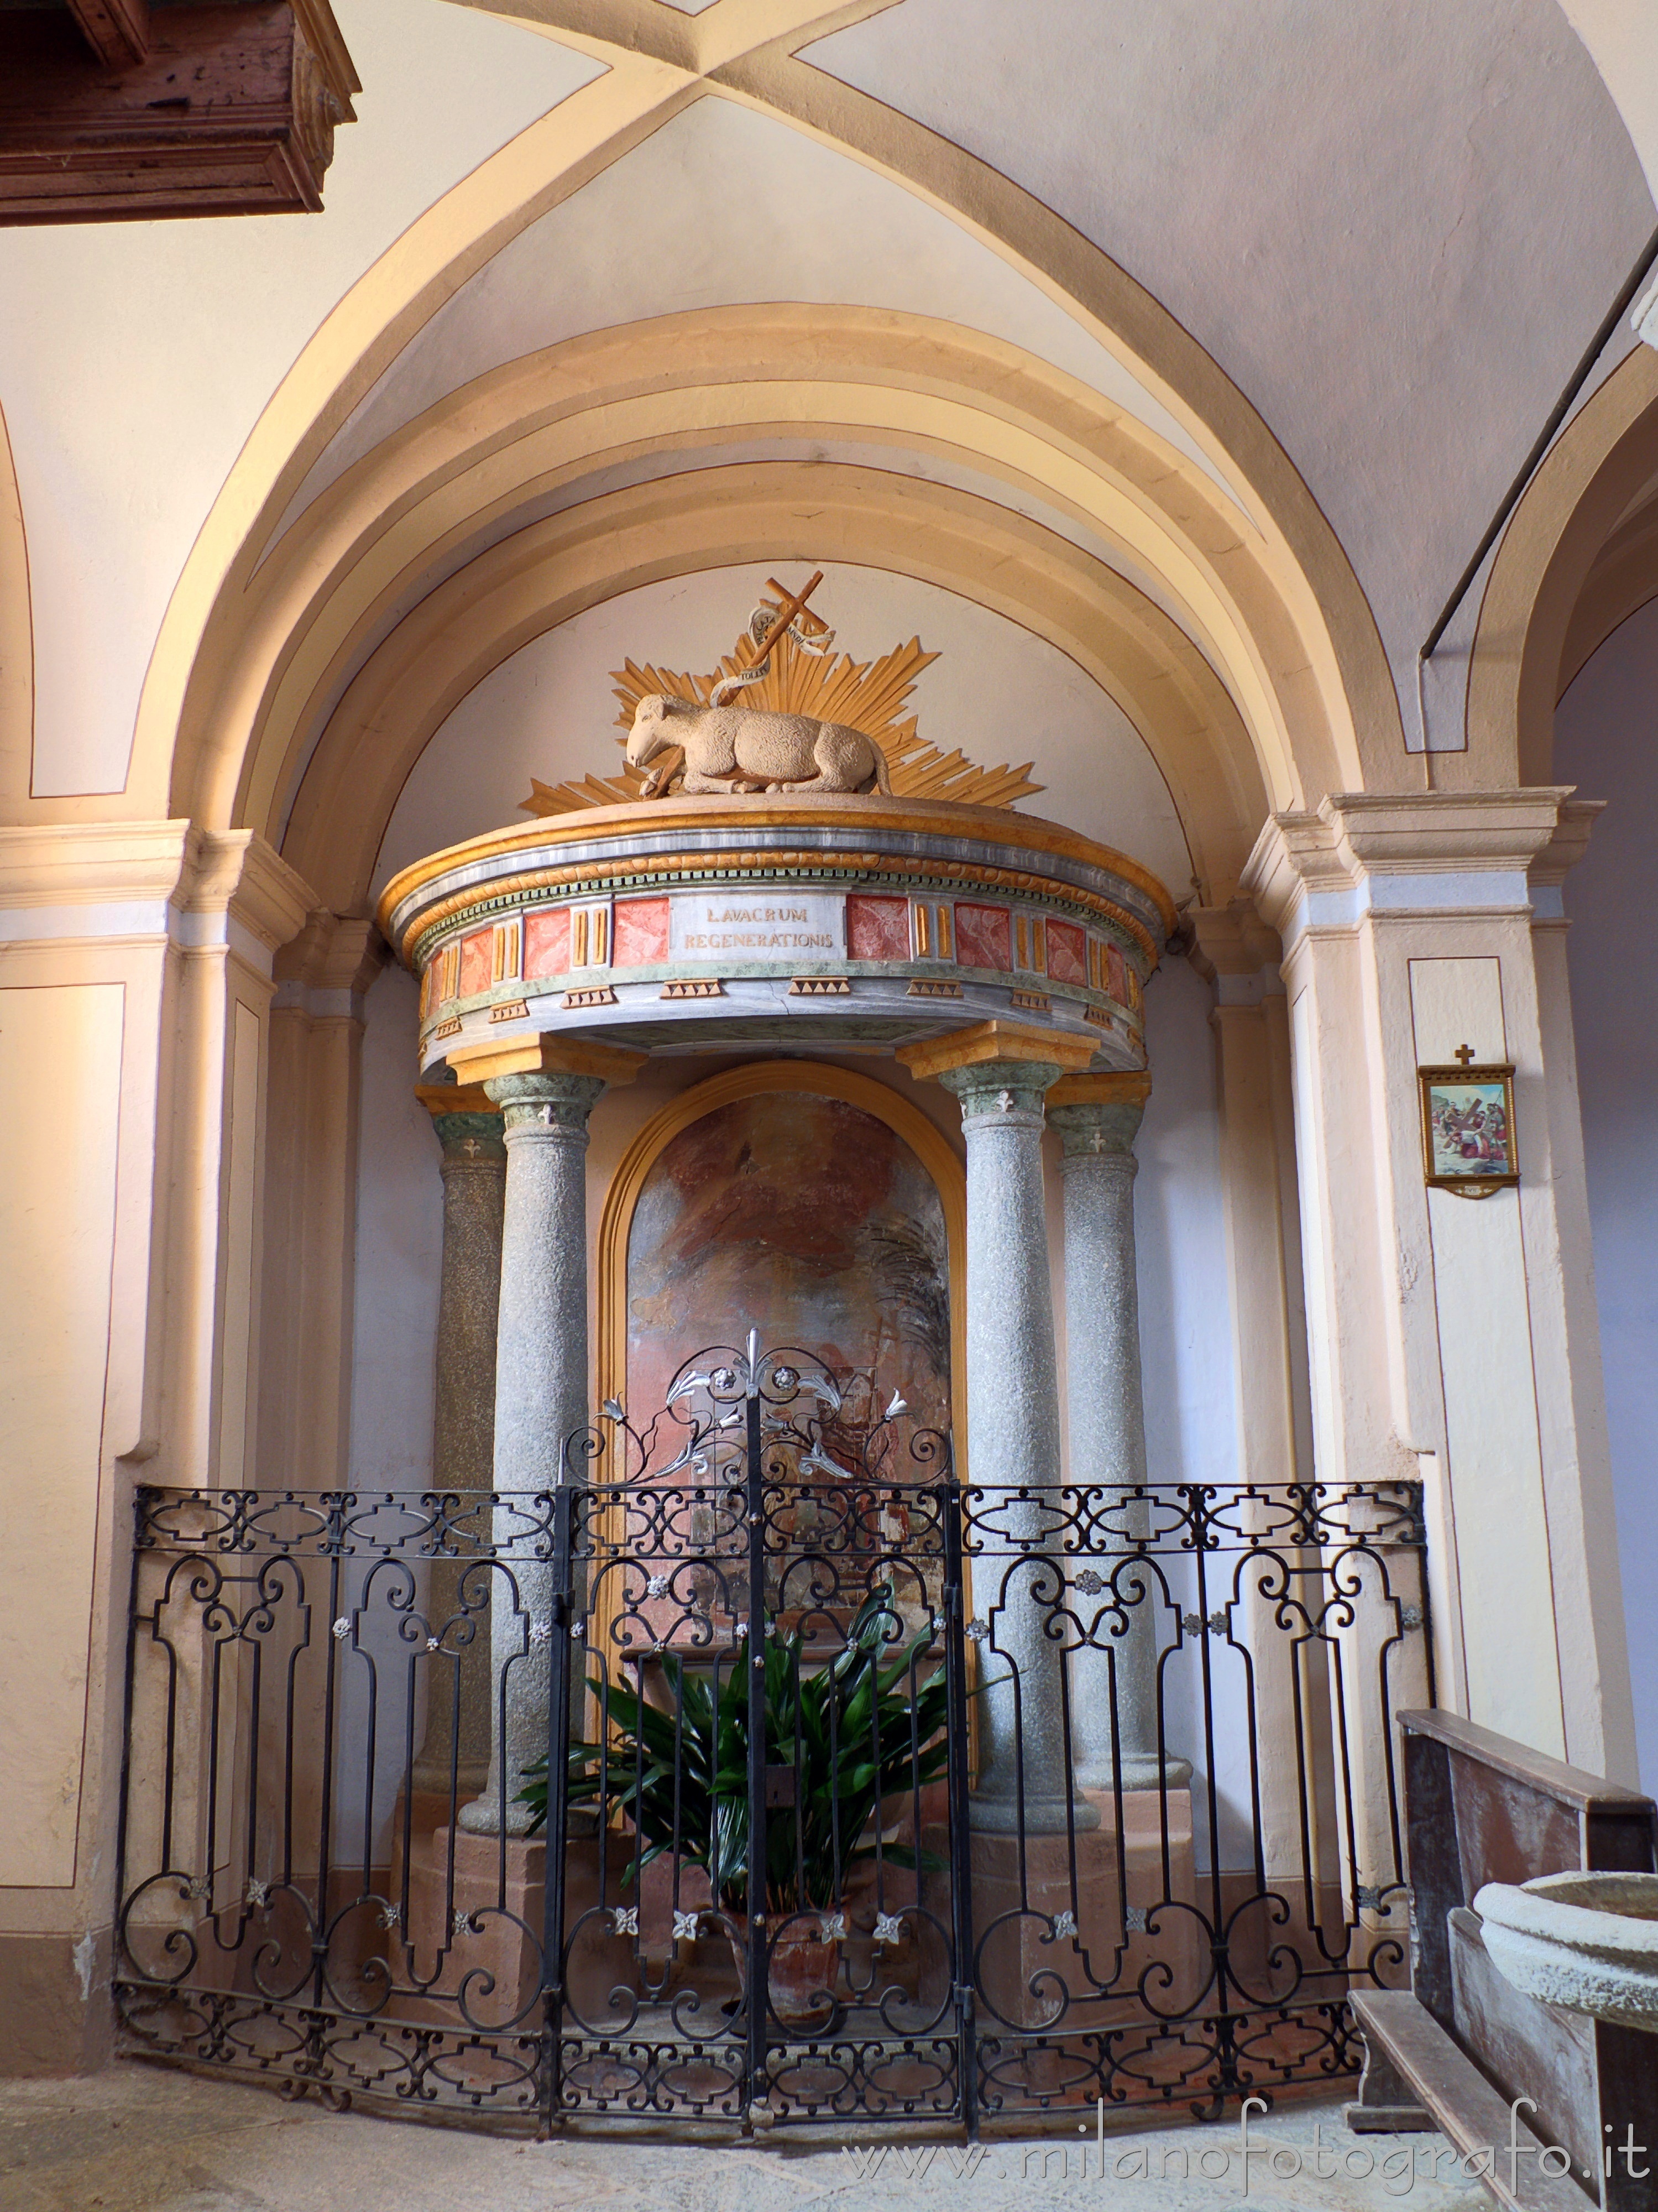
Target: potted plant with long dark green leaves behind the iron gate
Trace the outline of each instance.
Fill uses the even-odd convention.
[[[922,1790],[948,1765],[944,1666],[920,1679],[933,1632],[924,1628],[895,1650],[884,1641],[891,1619],[891,1588],[871,1590],[844,1646],[816,1670],[798,1628],[767,1639],[765,1763],[794,1772],[794,1805],[772,1805],[765,1816],[769,1913],[833,1907],[847,1871],[878,1851],[864,1832],[882,1803]],[[893,1657],[882,1659],[882,1650]],[[568,1803],[626,1814],[639,1832],[637,1865],[679,1851],[705,1867],[714,1898],[741,1913],[749,1880],[747,1639],[723,1672],[692,1670],[674,1652],[663,1652],[661,1672],[665,1708],[610,1683],[610,1741],[570,1745]],[[546,1823],[546,1759],[524,1774],[520,1801],[535,1809],[535,1832]],[[911,1845],[880,1849],[895,1865],[942,1865]]]

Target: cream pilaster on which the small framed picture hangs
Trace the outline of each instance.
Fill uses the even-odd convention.
[[[1439,1697],[1620,1778],[1581,1128],[1539,956],[1587,830],[1567,801],[1326,799],[1267,825],[1245,889],[1284,938],[1318,1473],[1421,1475]],[[1417,1066],[1463,1044],[1514,1064],[1521,1186],[1479,1203],[1421,1172]]]

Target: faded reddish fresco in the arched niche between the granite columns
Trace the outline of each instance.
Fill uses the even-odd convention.
[[[716,1106],[661,1150],[628,1239],[630,1418],[646,1425],[692,1354],[743,1345],[749,1327],[765,1347],[791,1345],[822,1360],[844,1389],[825,1420],[818,1462],[800,1471],[783,1506],[789,1548],[833,1551],[856,1577],[831,1533],[844,1531],[851,1509],[862,1531],[853,1548],[904,1555],[911,1513],[902,1495],[869,1491],[867,1447],[898,1396],[906,1411],[880,1453],[886,1480],[942,1473],[937,1462],[909,1460],[904,1447],[917,1429],[951,1427],[951,1285],[937,1186],[886,1121],[836,1097],[756,1093]],[[811,1411],[809,1400],[800,1409]],[[663,1422],[657,1436],[661,1467],[683,1431]],[[836,1469],[847,1471],[847,1498],[833,1495]],[[928,1551],[935,1542],[935,1533],[922,1540]],[[785,1571],[783,1579],[800,1590],[767,1590],[767,1604],[798,1617],[809,1577]],[[922,1584],[933,1579],[931,1559],[917,1582],[900,1573],[900,1610],[926,1608]]]

